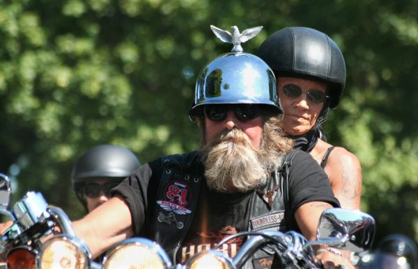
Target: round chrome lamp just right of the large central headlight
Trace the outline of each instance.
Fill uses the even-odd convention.
[[[213,269],[233,269],[231,258],[219,250],[205,250],[192,256],[186,263],[187,269],[213,268]]]

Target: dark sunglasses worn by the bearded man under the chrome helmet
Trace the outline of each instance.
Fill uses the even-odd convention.
[[[261,114],[261,108],[256,104],[211,104],[203,108],[205,117],[214,122],[225,120],[228,111],[233,111],[235,117],[242,122],[254,120]]]

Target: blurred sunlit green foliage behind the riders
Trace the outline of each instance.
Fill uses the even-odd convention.
[[[209,25],[264,26],[255,53],[284,26],[339,44],[348,81],[324,124],[362,162],[362,210],[377,239],[418,239],[418,1],[0,1],[0,171],[13,199],[42,192],[72,218],[84,213],[72,164],[101,143],[142,163],[199,147],[187,117],[201,67],[231,49]]]

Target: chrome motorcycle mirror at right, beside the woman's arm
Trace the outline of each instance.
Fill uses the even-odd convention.
[[[327,209],[318,224],[318,241],[352,252],[368,250],[373,243],[376,222],[366,213]],[[336,240],[339,239],[339,240]]]

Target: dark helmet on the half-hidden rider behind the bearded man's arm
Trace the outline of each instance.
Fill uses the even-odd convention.
[[[99,145],[84,153],[72,168],[71,181],[77,198],[86,207],[83,187],[87,181],[110,179],[121,181],[139,168],[141,163],[125,147]]]

